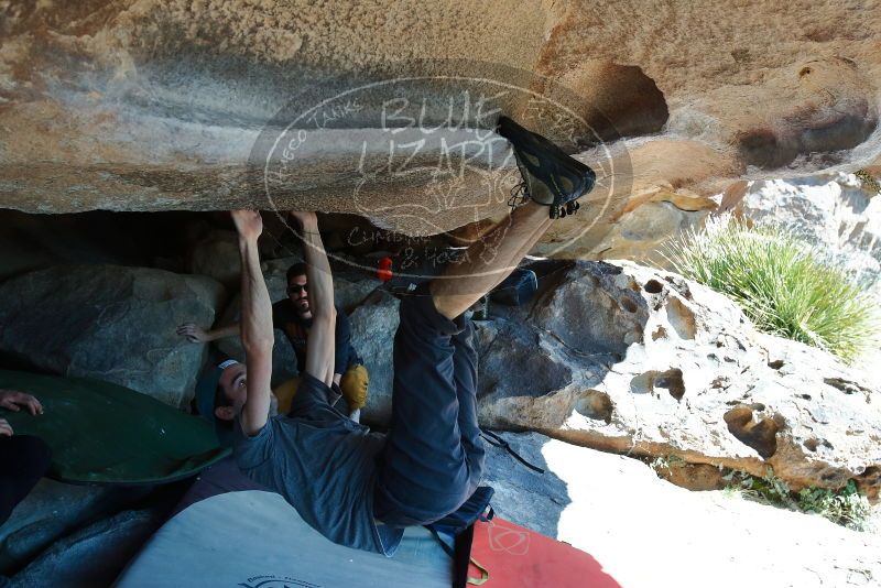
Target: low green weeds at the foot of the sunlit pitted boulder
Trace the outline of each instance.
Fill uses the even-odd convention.
[[[805,488],[795,493],[790,491],[786,482],[774,476],[770,468],[761,478],[744,471],[731,470],[722,479],[729,482],[725,489],[728,496],[740,496],[793,511],[819,514],[855,531],[869,531],[872,526],[872,507],[859,492],[853,480],[848,480],[839,490]]]

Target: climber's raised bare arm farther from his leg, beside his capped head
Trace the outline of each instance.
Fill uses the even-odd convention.
[[[239,231],[241,254],[241,342],[248,367],[248,398],[241,411],[246,435],[257,435],[267,424],[272,391],[272,304],[260,271],[257,238],[263,229],[260,213],[235,210],[232,220]]]

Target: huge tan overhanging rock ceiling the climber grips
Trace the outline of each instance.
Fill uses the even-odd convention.
[[[413,112],[383,119],[381,92],[324,112],[290,184],[267,198],[263,170],[249,157],[292,97],[292,111],[302,112],[316,96],[400,75],[435,81],[417,92],[427,97],[429,124],[396,135],[399,148],[428,138],[425,129],[443,122],[452,96],[454,121],[476,112],[469,102],[464,113],[459,86],[436,79],[450,74],[519,88],[498,106],[554,138],[565,129],[533,108],[536,96],[556,112],[569,109],[581,141],[652,134],[584,152],[600,171],[602,194],[547,236],[555,255],[592,251],[641,206],[662,217],[657,203],[685,214],[715,208],[708,197],[733,179],[857,166],[879,151],[867,139],[878,124],[881,59],[872,31],[881,11],[869,4],[841,11],[797,1],[783,18],[769,4],[721,0],[687,11],[661,0],[346,8],[151,0],[0,10],[0,195],[2,206],[29,211],[248,204],[355,213],[411,235],[503,213],[510,168],[486,173],[503,157],[487,154],[491,137],[458,135],[455,144],[482,154],[450,156],[472,164],[455,183],[432,184],[425,170],[396,173],[403,162],[440,167],[436,140],[383,167],[393,124],[383,126]],[[369,174],[351,166],[361,154]],[[657,231],[673,230],[676,215],[668,216]],[[569,243],[573,235],[578,242]]]

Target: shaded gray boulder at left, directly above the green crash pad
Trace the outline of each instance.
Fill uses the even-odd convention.
[[[0,285],[0,350],[64,375],[97,378],[185,407],[203,350],[176,334],[210,324],[208,277],[116,265],[56,266]]]

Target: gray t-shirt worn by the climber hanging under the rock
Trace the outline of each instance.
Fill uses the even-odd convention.
[[[253,437],[237,420],[233,455],[252,480],[279,492],[334,543],[391,556],[403,535],[373,520],[377,456],[384,436],[338,411],[273,416]]]

